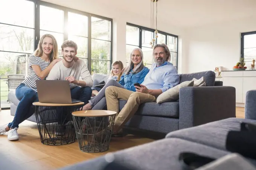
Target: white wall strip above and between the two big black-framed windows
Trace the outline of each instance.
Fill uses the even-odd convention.
[[[76,0],[75,3],[70,3],[70,1],[60,1],[60,0],[45,0],[46,2],[54,3],[57,5],[66,6],[73,9],[78,9],[80,11],[90,12],[92,14],[101,15],[104,17],[113,19],[113,61],[120,60],[123,63],[126,62],[126,22],[137,24],[139,26],[150,27],[151,26],[151,17],[137,15],[131,11],[123,11],[118,8],[118,6],[108,5],[108,3],[103,3],[102,0],[94,0],[92,1],[84,1],[84,0]],[[164,20],[164,21],[163,21]],[[178,35],[180,41],[178,45],[178,71],[181,73],[184,68],[182,68],[182,34],[183,29],[173,26],[171,19],[161,18],[158,19],[157,29],[171,33],[174,35]]]

